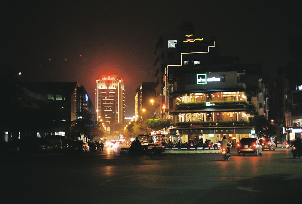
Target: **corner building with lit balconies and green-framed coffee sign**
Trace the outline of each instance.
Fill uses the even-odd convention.
[[[252,118],[267,115],[261,65],[221,57],[214,37],[187,33],[175,48],[180,63],[167,65],[164,79],[165,118],[177,126],[172,141],[253,136]]]

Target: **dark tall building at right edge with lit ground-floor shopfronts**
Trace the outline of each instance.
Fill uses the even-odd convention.
[[[295,140],[302,137],[302,36],[292,36],[290,53],[293,61],[286,68],[280,68],[277,77],[276,96],[282,100],[275,111],[283,113],[280,125],[283,127],[281,140]],[[279,109],[278,109],[279,108]]]

